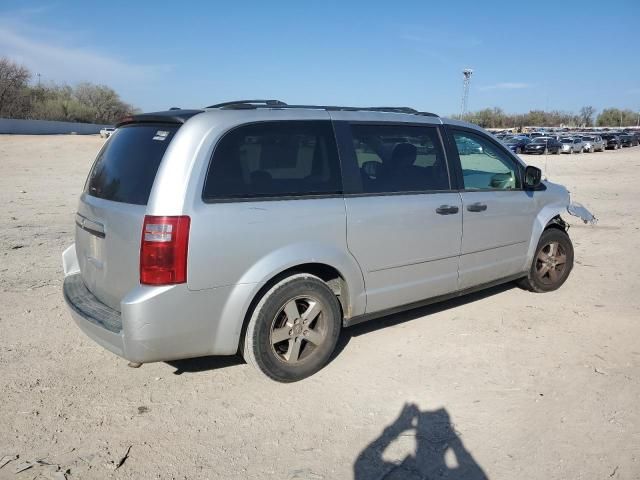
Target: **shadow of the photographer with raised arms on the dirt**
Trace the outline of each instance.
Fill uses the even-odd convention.
[[[404,437],[415,438],[413,454],[383,458],[393,455],[385,455],[392,443],[409,440]],[[487,480],[446,409],[420,411],[414,404],[405,404],[399,417],[358,455],[353,470],[355,480]]]

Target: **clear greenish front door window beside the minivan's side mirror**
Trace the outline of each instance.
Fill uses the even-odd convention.
[[[454,131],[467,190],[513,190],[522,188],[516,162],[492,142],[474,133]]]

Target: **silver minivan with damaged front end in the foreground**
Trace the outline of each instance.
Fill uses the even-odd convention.
[[[484,130],[410,108],[134,115],[89,173],[64,298],[133,364],[240,352],[290,382],[343,327],[504,282],[557,289],[568,206]]]

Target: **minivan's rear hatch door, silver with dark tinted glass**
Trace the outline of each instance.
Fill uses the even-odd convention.
[[[131,123],[107,140],[76,214],[76,253],[87,288],[109,307],[139,285],[140,238],[151,187],[179,128]]]

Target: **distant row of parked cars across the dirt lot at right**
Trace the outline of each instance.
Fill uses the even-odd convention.
[[[560,154],[593,153],[607,149],[635,147],[640,144],[640,133],[634,132],[575,132],[570,135],[555,133],[527,133],[518,135],[496,135],[514,153]]]

